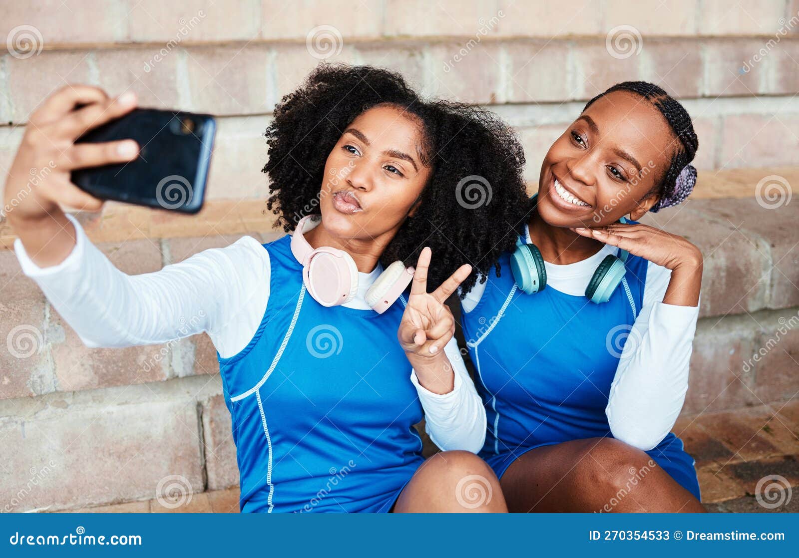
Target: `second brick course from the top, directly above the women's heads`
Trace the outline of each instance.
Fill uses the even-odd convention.
[[[312,26],[305,28],[300,41],[249,41],[248,37],[209,45],[187,39],[168,48],[154,42],[51,49],[57,45],[48,38],[47,48],[38,55],[3,57],[8,100],[0,103],[0,122],[26,122],[38,103],[65,83],[94,83],[112,94],[130,87],[139,94],[142,106],[218,116],[270,113],[323,58],[306,46],[311,30]],[[193,38],[201,39],[201,35]],[[666,81],[670,93],[683,99],[792,95],[797,90],[793,60],[799,41],[795,37],[782,38],[774,49],[773,63],[769,57],[768,65],[754,64],[748,72],[738,69],[763,46],[761,38],[647,37],[640,42],[638,56],[624,58],[610,55],[604,35],[487,38],[463,56],[459,53],[467,41],[442,36],[391,41],[332,38],[335,53],[324,59],[388,66],[427,96],[484,105],[585,101],[628,80]],[[34,39],[33,46],[37,45]],[[553,74],[559,79],[539,79]]]

